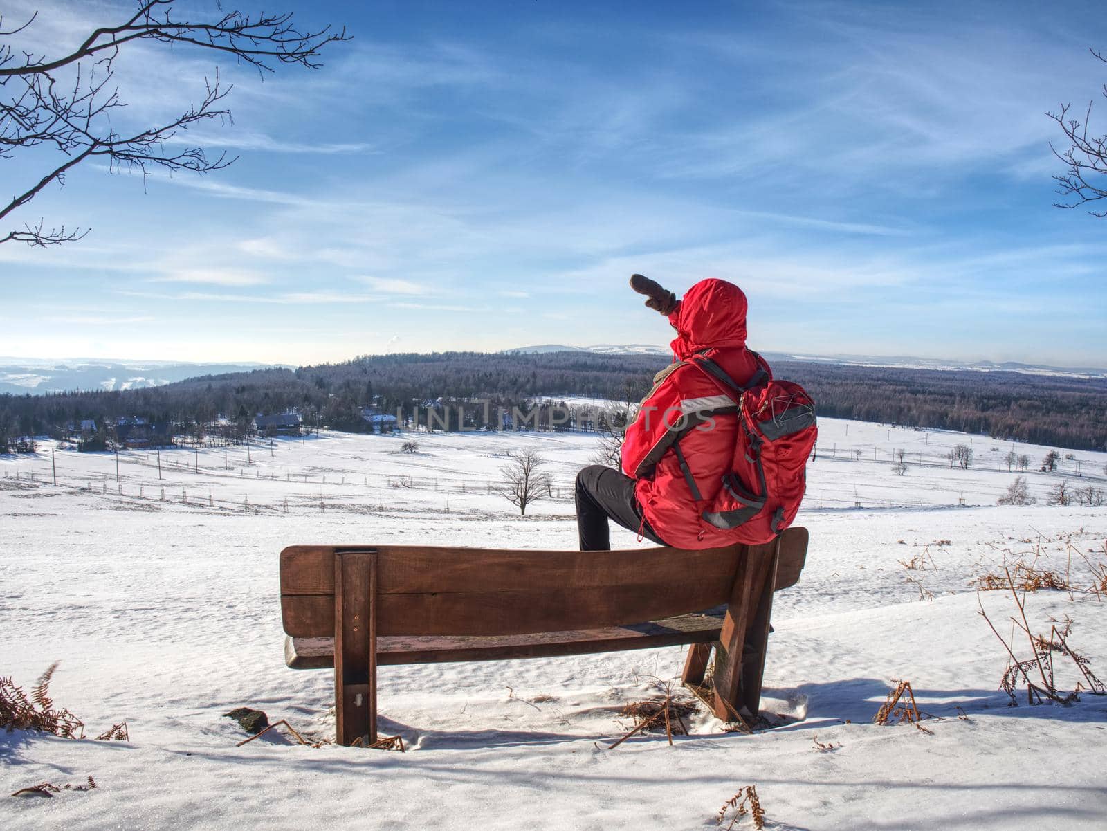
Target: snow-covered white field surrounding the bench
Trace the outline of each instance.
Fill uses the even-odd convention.
[[[1007,638],[1016,609],[974,583],[1022,559],[1089,585],[1107,563],[1107,508],[1044,502],[1062,479],[1107,488],[1107,455],[1076,451],[1042,474],[1045,447],[834,419],[797,520],[808,564],[774,606],[762,706],[783,726],[724,733],[700,714],[673,747],[652,734],[608,749],[632,726],[620,708],[679,675],[684,651],[671,647],[384,667],[382,734],[403,736],[403,755],[273,733],[236,747],[246,735],[223,714],[239,706],[333,735],[332,674],[283,664],[284,546],[576,546],[571,484],[596,436],[439,433],[415,436],[415,454],[403,438],[324,433],[249,458],[127,451],[117,474],[112,454],[59,450],[56,487],[49,443],[0,456],[0,675],[30,689],[60,661],[54,702],[90,736],[123,719],[130,730],[116,742],[0,735],[0,828],[699,829],[745,786],[772,829],[1104,827],[1107,697],[1006,706],[1007,654],[977,596]],[[961,442],[968,470],[945,458]],[[556,482],[525,518],[494,491],[521,448]],[[996,506],[1018,472],[1012,449],[1031,458],[1037,505]],[[1096,594],[1026,600],[1032,629],[1070,621],[1068,645],[1107,678]],[[1056,668],[1058,687],[1082,681]],[[893,678],[911,683],[930,733],[872,724]],[[86,776],[96,790],[7,796]]]

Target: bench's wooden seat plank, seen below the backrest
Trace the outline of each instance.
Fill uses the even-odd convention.
[[[683,614],[629,626],[535,635],[379,637],[376,663],[377,666],[386,666],[451,661],[506,661],[711,643],[718,640],[725,613],[726,606],[717,606],[699,614]],[[286,637],[284,663],[292,669],[330,668],[334,666],[334,638]]]

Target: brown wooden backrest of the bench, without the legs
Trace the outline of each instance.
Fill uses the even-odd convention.
[[[777,589],[798,579],[807,531],[788,529],[779,543]],[[289,635],[333,635],[341,554],[371,552],[377,635],[515,635],[642,623],[726,603],[743,559],[770,555],[776,544],[703,551],[291,546],[280,555],[281,614]]]

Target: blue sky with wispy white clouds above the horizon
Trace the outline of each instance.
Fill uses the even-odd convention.
[[[42,9],[23,37],[49,53],[132,8],[3,6]],[[1107,82],[1099,4],[270,6],[355,40],[263,82],[220,65],[234,124],[189,141],[229,169],[85,166],[35,199],[24,221],[93,230],[0,246],[0,354],[665,343],[639,271],[739,284],[765,351],[1107,365],[1107,219],[1052,207],[1045,116]],[[198,100],[217,63],[123,54],[121,118]],[[11,193],[34,173],[0,162]]]

